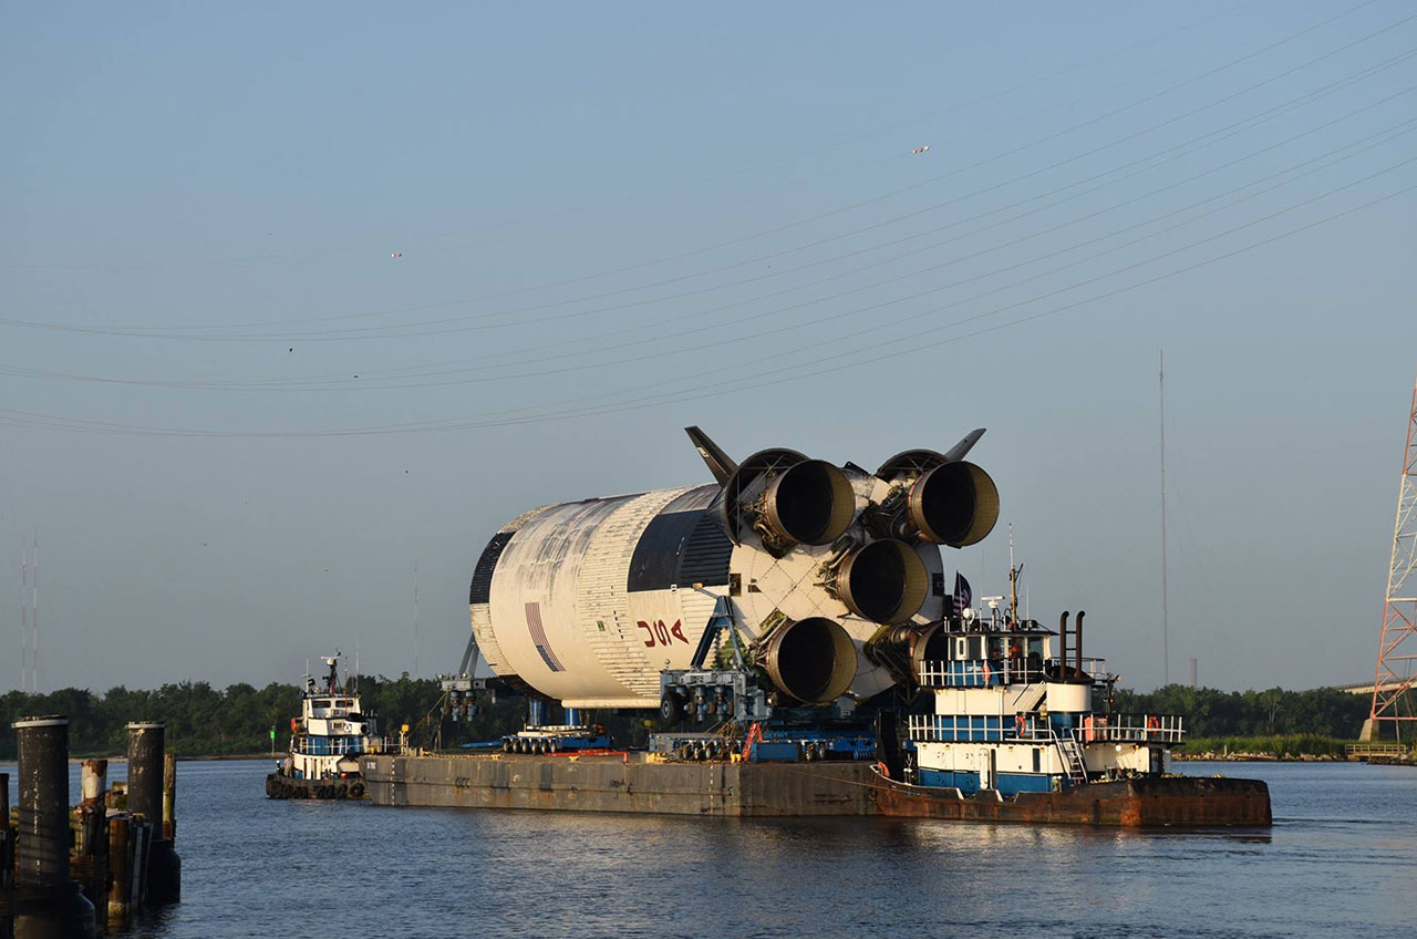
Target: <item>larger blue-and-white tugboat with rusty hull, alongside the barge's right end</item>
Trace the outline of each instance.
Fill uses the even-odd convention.
[[[1015,576],[1010,576],[1010,582]],[[1016,591],[1015,591],[1016,593]],[[1117,677],[1083,658],[1083,613],[1058,630],[1017,600],[964,609],[913,650],[924,699],[907,739],[873,770],[883,816],[1119,828],[1268,827],[1270,790],[1248,779],[1175,776],[1178,715],[1112,711]],[[1076,644],[1068,657],[1068,634]]]

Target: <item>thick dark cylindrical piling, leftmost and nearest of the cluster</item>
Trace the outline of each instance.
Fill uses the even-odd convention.
[[[21,718],[16,939],[89,939],[94,905],[69,877],[69,719]]]

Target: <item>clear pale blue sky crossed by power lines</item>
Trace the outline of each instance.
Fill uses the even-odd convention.
[[[1012,529],[1124,687],[1373,675],[1411,4],[6,21],[0,692],[35,540],[43,691],[453,671],[490,535],[707,481],[687,424],[869,468],[986,427],[976,596]]]

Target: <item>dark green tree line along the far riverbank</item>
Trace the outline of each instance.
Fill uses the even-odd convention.
[[[452,748],[463,742],[493,740],[516,730],[526,716],[526,701],[478,692],[476,713],[451,721],[441,713],[442,691],[429,678],[361,675],[363,706],[380,719],[380,732],[397,736],[410,726],[411,742]],[[1098,702],[1100,704],[1100,702]],[[1114,711],[1124,713],[1179,713],[1187,738],[1238,738],[1315,735],[1356,739],[1372,699],[1335,688],[1312,691],[1219,691],[1166,685],[1152,692],[1117,689]],[[74,756],[116,756],[128,752],[130,721],[163,721],[167,746],[179,756],[231,756],[283,750],[290,718],[300,712],[300,688],[272,682],[265,688],[238,682],[225,689],[204,681],[130,691],[123,685],[96,695],[82,688],[50,694],[10,691],[0,696],[0,759],[16,757],[10,723],[23,716],[62,713],[69,718],[69,752]],[[554,713],[548,719],[558,719]],[[623,743],[643,743],[649,728],[643,716],[606,715],[611,733]]]

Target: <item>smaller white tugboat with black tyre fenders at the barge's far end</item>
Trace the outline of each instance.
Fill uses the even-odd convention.
[[[271,799],[363,799],[359,757],[383,750],[373,715],[339,679],[340,651],[323,661],[330,672],[323,685],[305,677],[300,716],[290,718],[290,749],[266,776]]]

